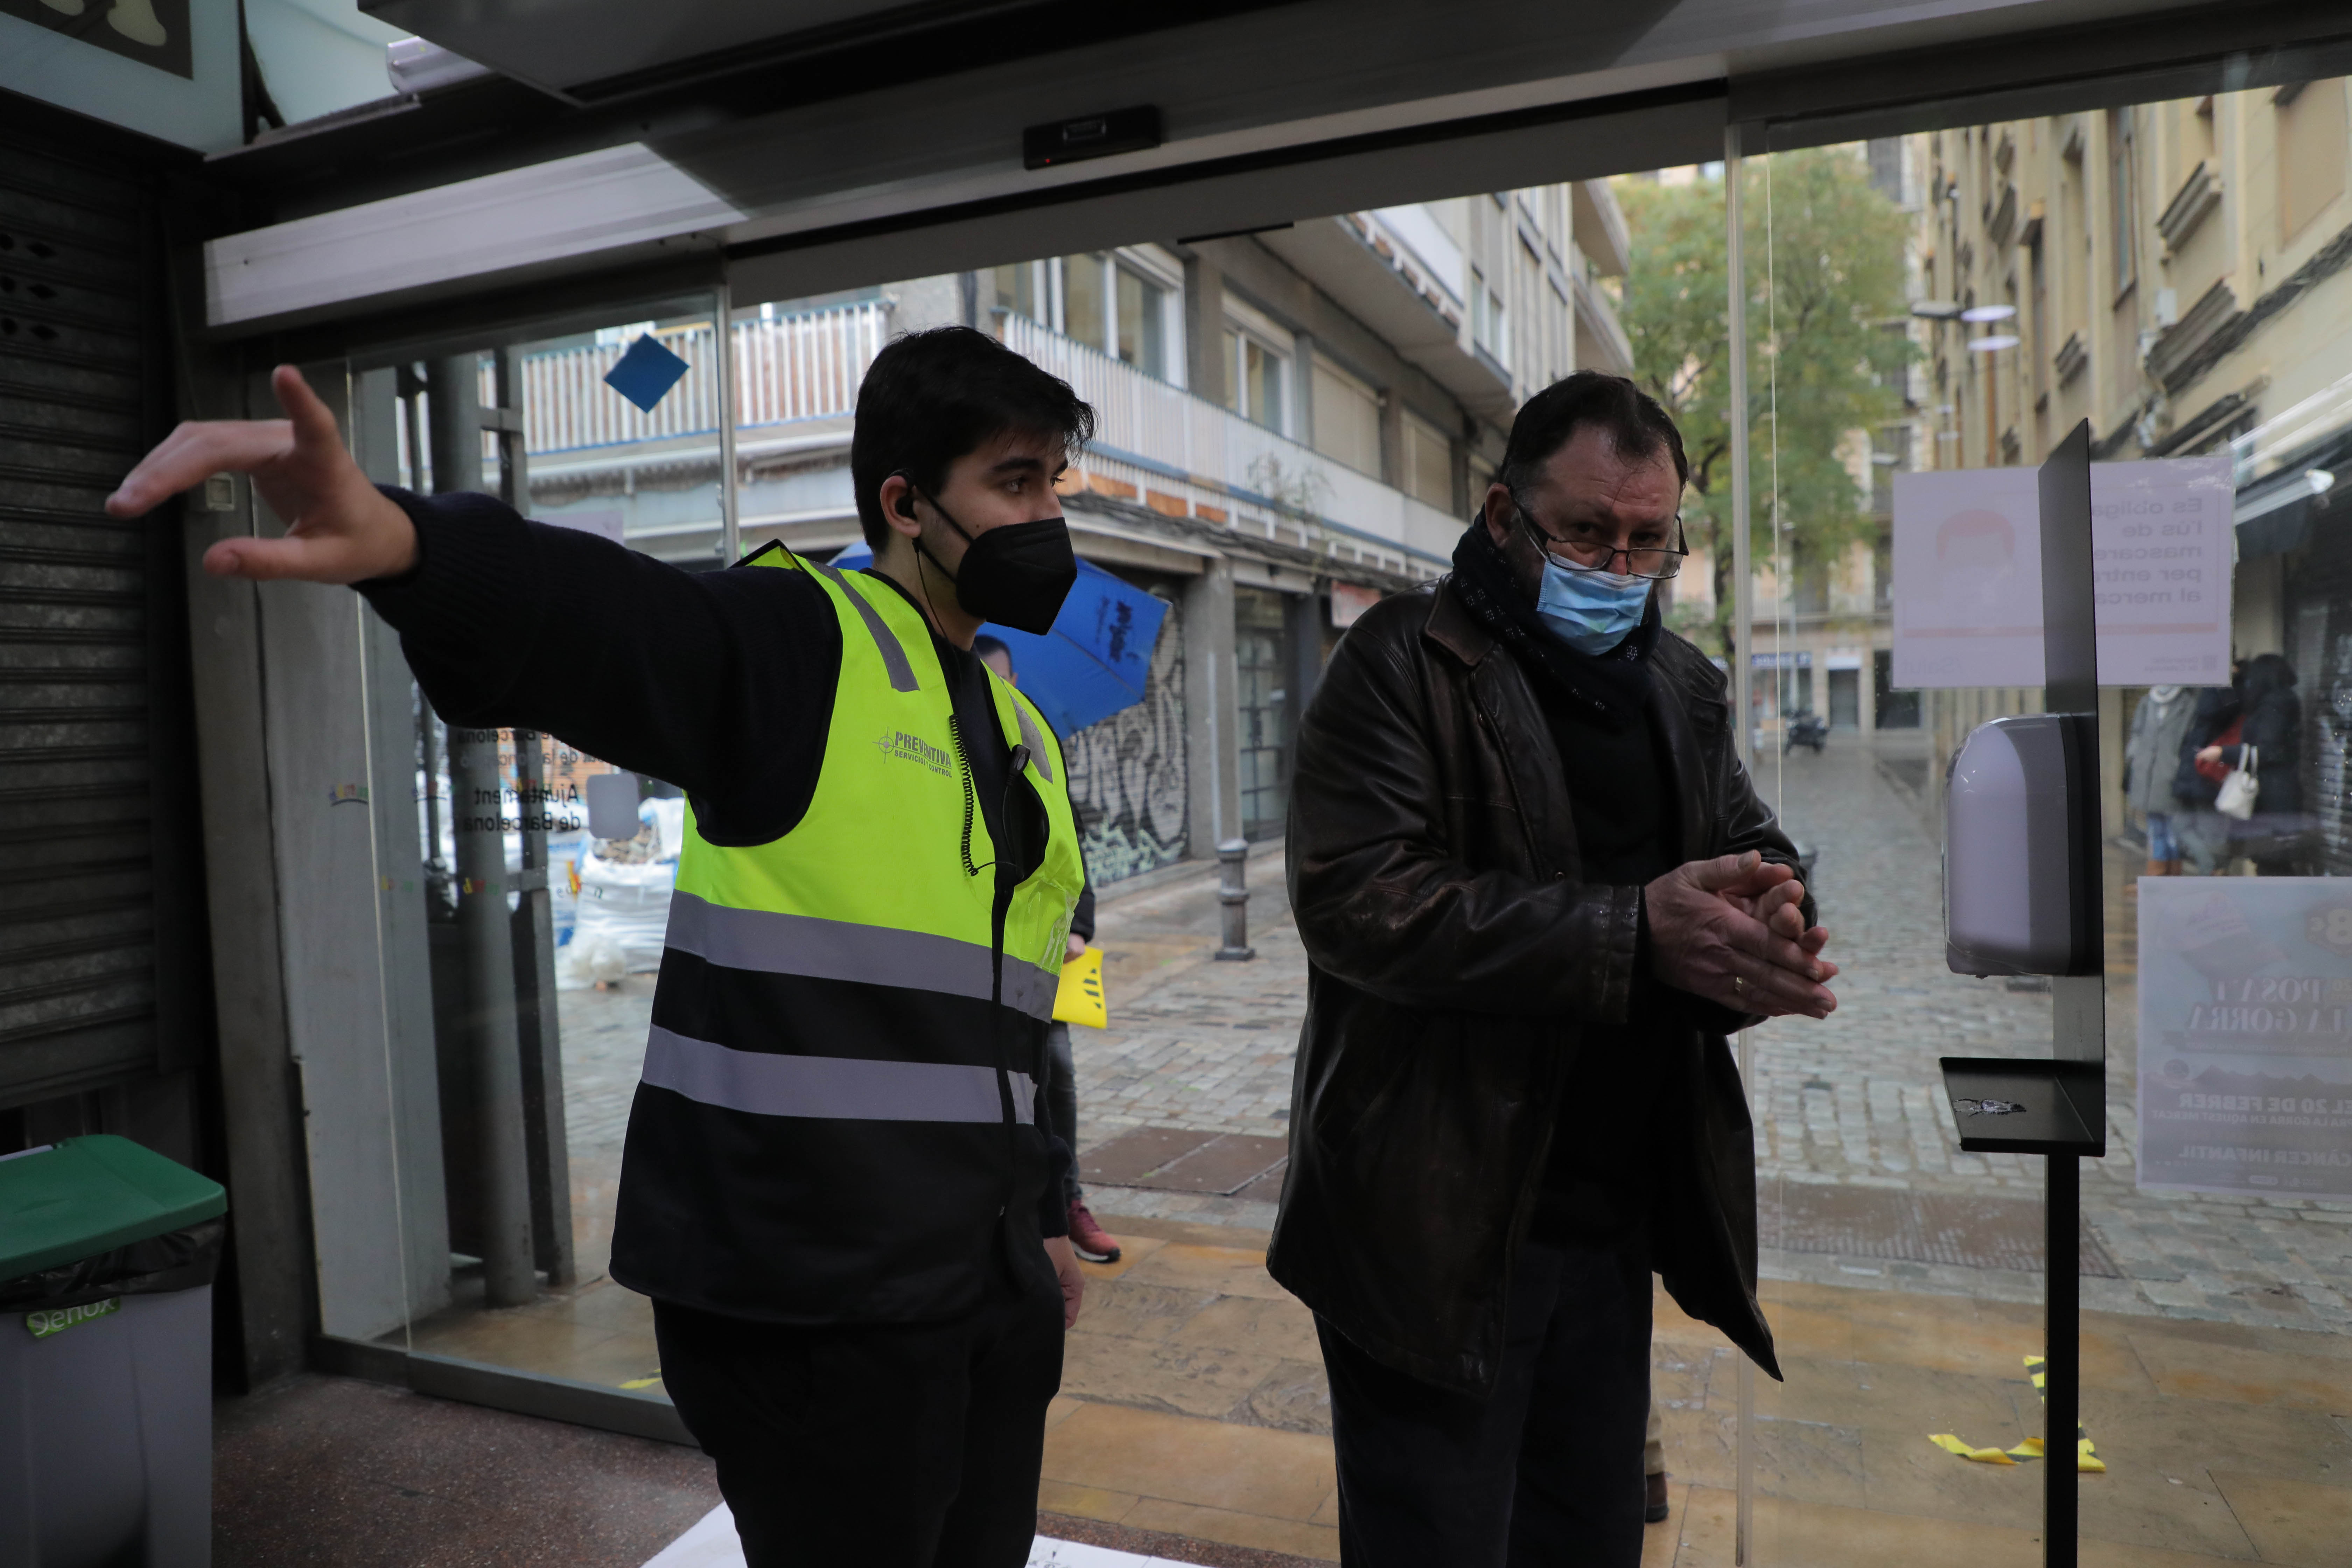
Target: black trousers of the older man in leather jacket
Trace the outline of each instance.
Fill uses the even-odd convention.
[[[1329,1321],[1348,1568],[1639,1568],[1649,1248],[1526,1241],[1494,1399],[1421,1382]]]

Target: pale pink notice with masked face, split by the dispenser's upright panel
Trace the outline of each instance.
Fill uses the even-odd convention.
[[[2230,458],[2091,463],[2100,686],[2230,684]],[[2042,684],[2032,468],[1896,475],[1893,684]]]

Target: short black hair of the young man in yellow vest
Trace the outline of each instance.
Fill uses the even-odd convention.
[[[882,552],[882,480],[906,470],[936,496],[948,465],[981,442],[1021,430],[1058,440],[1077,454],[1094,440],[1094,409],[985,331],[931,327],[882,346],[858,386],[858,423],[849,437],[849,482],[858,491],[858,527]]]

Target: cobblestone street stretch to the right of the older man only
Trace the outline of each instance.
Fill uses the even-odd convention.
[[[1900,738],[1889,738],[1900,745]],[[1924,759],[1924,752],[1922,752]],[[1832,931],[1839,1009],[1752,1034],[1757,1161],[1766,1180],[2039,1194],[2042,1161],[1959,1154],[1940,1056],[2046,1056],[2049,994],[1955,976],[1943,964],[1936,842],[1912,802],[1846,741],[1823,755],[1762,757],[1790,832],[1820,849],[1816,882]],[[2117,867],[2122,870],[2122,867]],[[2124,1279],[2084,1279],[2084,1305],[2249,1326],[2352,1328],[2352,1204],[2246,1201],[2133,1185],[2136,973],[2129,879],[2110,875],[2107,1157],[2082,1161],[2084,1218]],[[2117,961],[2122,959],[2122,961]],[[1867,1284],[1844,1260],[1783,1255],[1785,1276]],[[1867,1265],[1863,1265],[1867,1267]],[[1884,1265],[1889,1284],[2030,1300],[2034,1276]]]

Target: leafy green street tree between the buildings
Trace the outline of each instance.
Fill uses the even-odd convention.
[[[1731,646],[1731,334],[1724,183],[1623,176],[1632,235],[1618,320],[1635,381],[1665,404],[1691,458],[1684,529],[1715,569],[1712,616],[1677,628]],[[1910,219],[1870,183],[1858,148],[1806,148],[1745,165],[1750,550],[1792,578],[1870,538],[1858,442],[1900,411],[1896,371],[1915,348],[1905,317]],[[1773,423],[1778,409],[1778,428]]]

